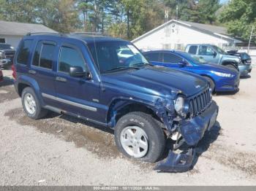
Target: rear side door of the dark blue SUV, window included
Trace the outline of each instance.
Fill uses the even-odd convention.
[[[46,105],[57,106],[56,101],[44,95],[55,95],[54,80],[56,72],[53,71],[58,58],[57,42],[40,40],[35,47],[33,60],[29,68],[29,75],[37,81],[42,98]]]

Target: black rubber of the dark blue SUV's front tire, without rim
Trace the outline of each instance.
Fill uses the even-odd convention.
[[[148,151],[143,157],[132,157],[121,144],[121,132],[128,126],[137,126],[145,131],[148,136]],[[118,150],[129,158],[143,160],[148,163],[155,163],[162,156],[165,149],[165,135],[162,128],[157,125],[150,114],[143,112],[131,112],[121,117],[115,127],[115,141]]]

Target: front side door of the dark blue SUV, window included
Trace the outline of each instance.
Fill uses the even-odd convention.
[[[86,59],[80,47],[82,42],[70,44],[62,42],[59,49],[59,62],[55,79],[56,100],[59,109],[72,114],[98,120],[99,85],[86,77],[71,77],[69,68],[80,66],[83,71],[89,71]]]

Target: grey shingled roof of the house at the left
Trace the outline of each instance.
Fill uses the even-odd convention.
[[[41,24],[31,24],[31,23],[17,23],[0,20],[0,34],[1,35],[18,35],[24,36],[28,33],[35,32],[48,32],[56,33],[53,29],[50,29]]]

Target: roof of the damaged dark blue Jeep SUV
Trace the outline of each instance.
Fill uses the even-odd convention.
[[[27,35],[31,36],[31,35]],[[103,36],[103,35],[94,35],[94,34],[34,34],[32,36],[39,36],[39,37],[56,37],[56,38],[72,38],[72,39],[80,39],[86,44],[90,44],[92,42],[127,42],[124,39],[113,38],[110,36]]]

